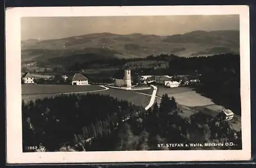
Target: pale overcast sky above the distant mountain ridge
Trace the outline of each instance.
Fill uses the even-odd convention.
[[[191,31],[239,30],[239,15],[25,17],[22,40],[60,39],[108,32],[174,35]]]

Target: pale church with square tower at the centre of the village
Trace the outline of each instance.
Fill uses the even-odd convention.
[[[121,77],[122,76],[122,77]],[[132,88],[131,70],[125,69],[124,74],[114,77],[113,85],[119,88]]]

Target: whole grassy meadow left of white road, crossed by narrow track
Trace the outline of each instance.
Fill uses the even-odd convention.
[[[119,100],[127,100],[135,105],[147,106],[150,102],[151,96],[134,93],[132,91],[124,91],[118,89],[103,90],[104,88],[96,85],[89,86],[71,86],[71,85],[23,85],[22,86],[22,99],[25,102],[36,99],[43,99],[46,97],[55,97],[61,93],[73,93],[73,92],[90,92],[100,93],[103,95],[110,95]],[[87,93],[78,93],[87,94]],[[100,102],[97,102],[100,103]]]

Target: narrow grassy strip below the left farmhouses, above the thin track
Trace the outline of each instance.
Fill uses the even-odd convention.
[[[73,93],[103,90],[96,85],[73,86],[73,85],[22,85],[22,95]]]

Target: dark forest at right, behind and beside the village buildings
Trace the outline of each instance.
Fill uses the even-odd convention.
[[[194,89],[241,115],[240,55],[218,54],[210,57],[179,58],[169,61],[169,75],[201,74],[202,85]]]

